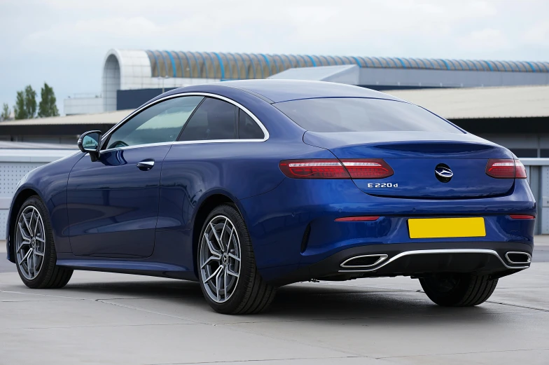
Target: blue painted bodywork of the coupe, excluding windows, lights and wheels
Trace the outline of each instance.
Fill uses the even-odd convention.
[[[536,214],[527,181],[485,174],[489,158],[513,158],[507,149],[459,131],[307,132],[272,105],[305,97],[394,97],[333,83],[260,80],[196,85],[158,98],[181,92],[234,100],[261,120],[269,139],[123,149],[103,153],[95,162],[76,153],[34,170],[18,194],[34,189],[46,202],[60,265],[195,280],[193,235],[202,228],[195,225],[197,213],[219,195],[232,200],[244,217],[267,280],[350,247],[433,241],[410,239],[406,221],[411,216],[482,216],[486,237],[459,241],[480,247],[482,242],[532,245],[534,220],[508,217]],[[382,180],[289,179],[278,167],[281,160],[336,156],[384,158],[395,174]],[[138,170],[136,164],[146,158],[155,166]],[[454,170],[450,183],[436,180],[438,163]],[[398,188],[368,187],[380,181]],[[334,221],[356,215],[380,219]],[[310,237],[302,252],[307,226]]]

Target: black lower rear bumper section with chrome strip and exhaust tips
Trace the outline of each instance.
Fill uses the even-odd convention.
[[[276,284],[305,280],[349,280],[358,277],[422,276],[471,273],[502,277],[529,268],[533,247],[515,242],[415,242],[343,249],[302,266]],[[508,257],[508,253],[516,256]],[[355,258],[371,257],[371,263]],[[358,263],[358,265],[354,264]]]

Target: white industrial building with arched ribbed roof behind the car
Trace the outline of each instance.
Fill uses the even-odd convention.
[[[324,80],[375,90],[549,85],[549,62],[113,49],[104,57],[101,96],[65,99],[64,113],[134,109],[164,90],[247,78]]]

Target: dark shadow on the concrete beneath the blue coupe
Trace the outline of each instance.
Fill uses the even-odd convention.
[[[99,300],[120,300],[147,310],[170,315],[197,317],[215,315],[202,296],[197,282],[158,280],[151,282],[104,282],[70,284],[62,295],[91,294]],[[133,301],[145,299],[145,302]],[[135,304],[134,304],[135,303]],[[356,319],[349,324],[364,325],[361,319],[383,319],[384,322],[408,324],[444,324],[459,322],[497,322],[498,313],[512,311],[501,305],[485,304],[473,308],[443,308],[434,305],[422,292],[415,290],[380,289],[376,287],[349,287],[332,284],[294,284],[278,289],[277,297],[265,313],[231,318],[242,322],[249,317],[253,322],[296,321],[316,319]],[[175,308],[175,309],[174,309]],[[221,318],[220,318],[221,319]],[[223,321],[224,322],[224,321]]]

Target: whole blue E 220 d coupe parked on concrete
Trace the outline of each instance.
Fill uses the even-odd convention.
[[[197,280],[214,310],[277,287],[406,275],[478,305],[528,268],[536,202],[508,149],[382,92],[310,81],[179,88],[20,181],[8,260],[30,288],[73,270]]]

